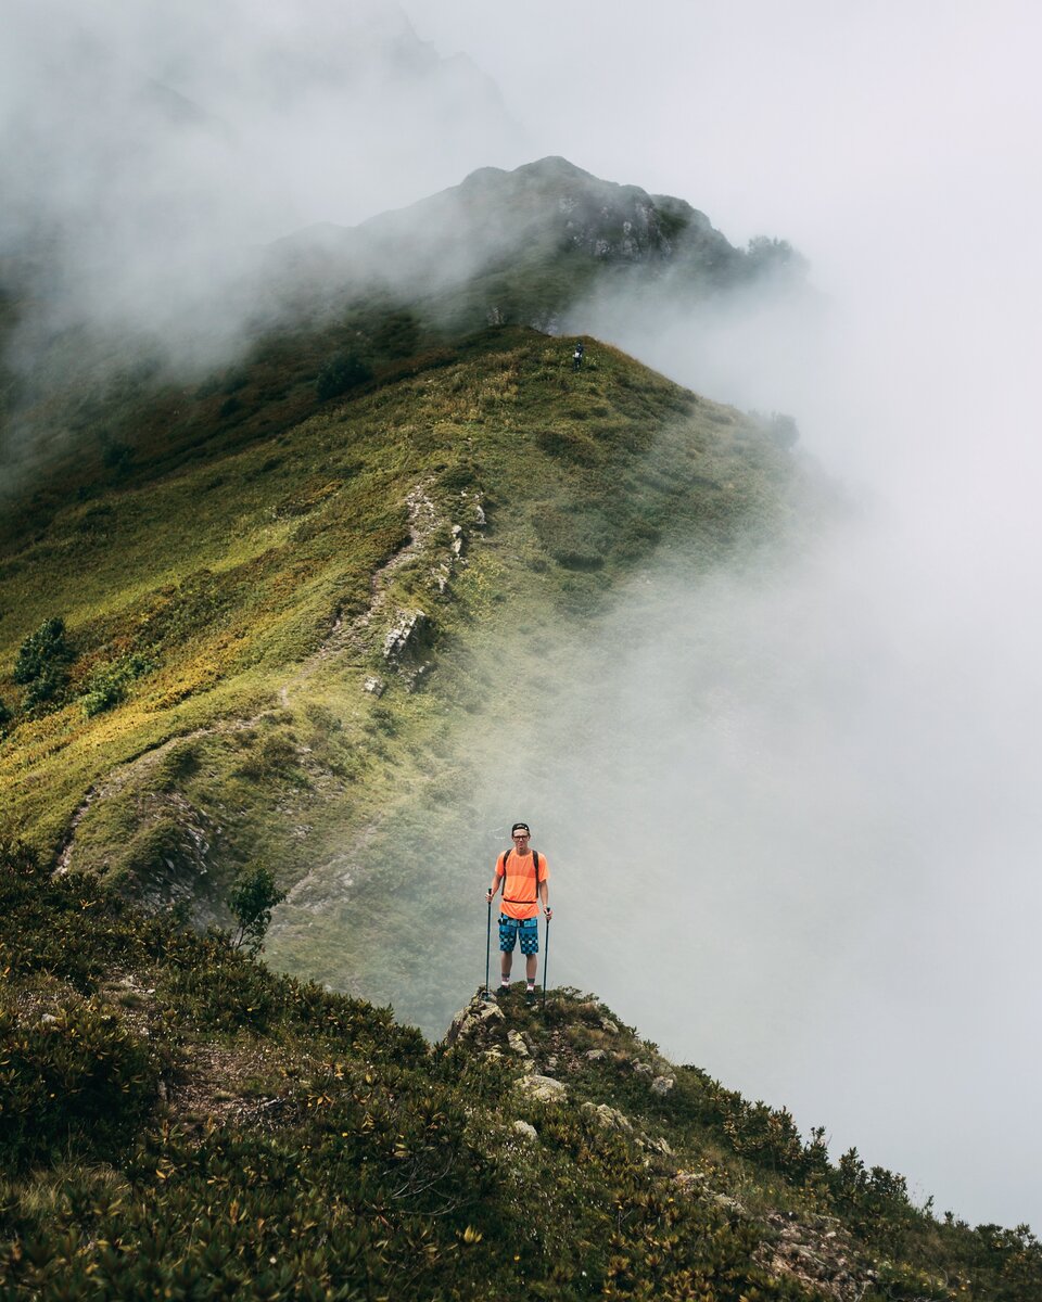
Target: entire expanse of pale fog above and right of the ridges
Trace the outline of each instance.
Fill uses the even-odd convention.
[[[551,980],[940,1210],[1038,1228],[1042,18],[402,8],[429,44],[389,4],[3,0],[0,251],[52,326],[173,344],[258,243],[547,154],[791,240],[798,302],[598,311],[791,413],[857,518],[758,574],[645,575],[611,674],[533,721],[567,763],[500,820],[551,861]]]

